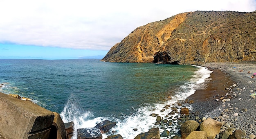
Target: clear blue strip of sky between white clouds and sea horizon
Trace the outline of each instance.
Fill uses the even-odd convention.
[[[83,56],[105,56],[106,50],[40,47],[0,44],[0,59],[77,59]]]

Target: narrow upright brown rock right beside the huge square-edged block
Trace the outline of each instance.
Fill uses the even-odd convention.
[[[53,128],[51,130],[51,137],[53,137],[52,136],[53,134],[53,135],[56,135],[56,138],[54,137],[54,139],[66,139],[67,133],[65,130],[65,125],[61,119],[61,116],[57,112],[53,112],[53,113],[54,113],[54,120],[52,124]],[[57,134],[55,134],[56,132]]]

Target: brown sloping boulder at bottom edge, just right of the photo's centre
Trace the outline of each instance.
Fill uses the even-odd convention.
[[[137,135],[134,139],[160,139],[158,128],[152,128],[148,132]]]

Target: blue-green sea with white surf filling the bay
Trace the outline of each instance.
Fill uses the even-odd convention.
[[[194,65],[100,59],[0,59],[0,92],[30,98],[58,112],[64,123],[73,121],[72,139],[78,128],[93,128],[104,120],[117,124],[103,139],[117,134],[133,139],[151,128],[169,130],[172,137],[178,132],[178,114],[168,117],[170,110],[160,111],[166,105],[177,107],[177,102],[205,88],[211,72]],[[173,124],[155,125],[153,113],[173,119]]]

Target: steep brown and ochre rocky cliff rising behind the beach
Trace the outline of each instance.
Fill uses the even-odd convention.
[[[256,11],[194,11],[148,23],[113,46],[101,61],[256,61]]]

